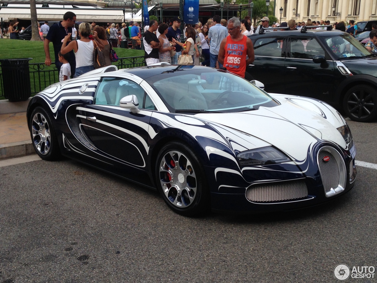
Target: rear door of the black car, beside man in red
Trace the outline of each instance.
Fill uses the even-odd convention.
[[[273,32],[271,32],[273,34]],[[283,37],[261,37],[255,40],[254,62],[246,67],[246,71],[254,80],[262,82],[265,91],[284,93],[285,44]]]

